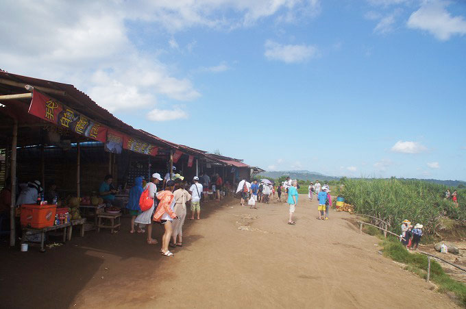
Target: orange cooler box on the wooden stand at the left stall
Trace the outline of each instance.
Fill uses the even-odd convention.
[[[56,205],[21,205],[21,226],[41,229],[52,226],[57,211]]]

